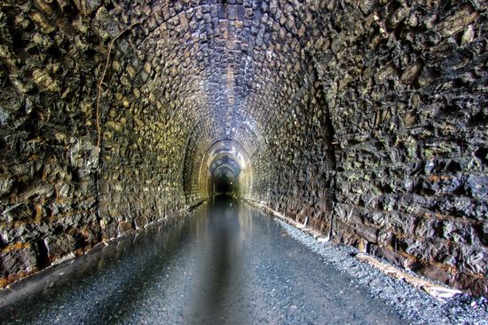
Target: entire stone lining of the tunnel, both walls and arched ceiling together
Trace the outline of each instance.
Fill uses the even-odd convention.
[[[1,286],[224,193],[488,295],[486,8],[3,0]]]

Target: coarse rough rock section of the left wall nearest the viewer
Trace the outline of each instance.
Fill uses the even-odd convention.
[[[101,58],[81,16],[28,2],[0,9],[0,276],[12,280],[100,240],[93,71]]]

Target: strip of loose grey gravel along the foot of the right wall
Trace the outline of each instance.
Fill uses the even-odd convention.
[[[358,261],[358,250],[318,242],[285,221],[275,218],[287,233],[303,242],[324,258],[324,263],[335,266],[358,284],[366,286],[371,297],[381,298],[405,319],[413,324],[488,324],[488,301],[484,297],[470,297],[465,294],[438,300],[412,285],[389,277],[385,273]]]

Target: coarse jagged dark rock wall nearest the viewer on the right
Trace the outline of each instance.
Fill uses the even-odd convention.
[[[487,294],[485,3],[329,3],[333,239]]]

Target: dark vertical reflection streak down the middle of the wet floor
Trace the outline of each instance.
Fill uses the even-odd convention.
[[[232,283],[240,281],[240,271],[244,267],[240,255],[246,228],[241,223],[248,221],[249,216],[242,213],[244,210],[238,210],[238,205],[232,202],[228,197],[217,197],[205,213],[206,226],[197,232],[198,237],[204,238],[206,249],[203,251],[199,273],[199,296],[190,312],[194,323],[243,323],[244,315],[231,315],[229,310],[235,298]]]

